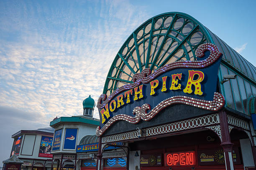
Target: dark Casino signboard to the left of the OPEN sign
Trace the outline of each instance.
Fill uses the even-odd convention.
[[[162,154],[151,154],[151,155],[141,155],[140,157],[140,166],[141,167],[154,167],[162,166],[163,158]]]

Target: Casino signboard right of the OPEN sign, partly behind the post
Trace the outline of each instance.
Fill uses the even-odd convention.
[[[221,148],[212,150],[198,150],[197,157],[199,165],[225,165],[225,156]],[[233,148],[232,157],[235,165],[241,164],[241,158],[237,147]]]

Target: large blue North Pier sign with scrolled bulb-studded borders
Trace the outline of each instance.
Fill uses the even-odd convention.
[[[119,87],[108,97],[102,94],[97,102],[100,126],[96,134],[102,135],[118,120],[133,124],[151,120],[175,104],[220,110],[225,104],[216,92],[222,54],[207,43],[197,48],[196,55],[195,61],[176,61],[152,73],[146,68],[133,76],[134,83]]]

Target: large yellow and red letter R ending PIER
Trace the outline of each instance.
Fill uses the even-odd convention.
[[[195,75],[198,75],[198,78],[197,80],[194,80],[194,76]],[[184,88],[183,92],[184,93],[192,93],[193,90],[192,90],[192,85],[195,86],[195,92],[194,94],[195,95],[202,95],[203,92],[201,91],[201,84],[200,82],[202,82],[202,80],[204,80],[204,73],[201,72],[201,71],[194,71],[194,70],[189,70],[189,77],[188,77],[188,80],[187,80],[187,86],[186,88]]]

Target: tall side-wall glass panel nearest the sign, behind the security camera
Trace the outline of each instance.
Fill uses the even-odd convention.
[[[222,76],[228,75],[227,67],[220,65],[220,69],[221,69]],[[224,92],[225,92],[226,106],[235,109],[235,103],[233,99],[233,93],[232,93],[230,81],[223,83],[223,86],[224,86]]]

